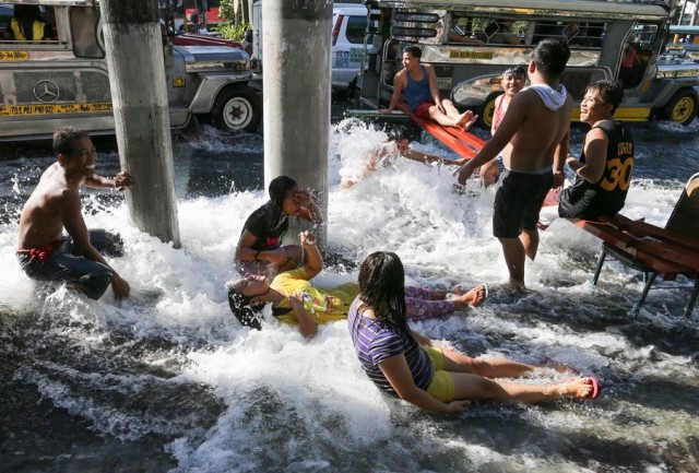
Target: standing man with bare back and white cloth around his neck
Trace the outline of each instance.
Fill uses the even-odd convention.
[[[500,240],[510,285],[524,287],[524,259],[536,257],[536,222],[544,198],[564,181],[572,99],[559,78],[570,58],[565,42],[548,38],[534,49],[528,67],[531,86],[517,94],[496,131],[481,152],[459,172],[465,185],[474,169],[502,151],[493,214],[493,234]]]

